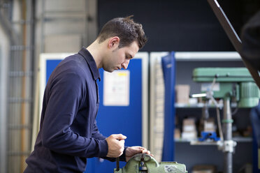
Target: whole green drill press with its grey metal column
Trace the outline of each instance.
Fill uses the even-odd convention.
[[[211,87],[198,96],[203,96],[206,100],[212,100],[216,105],[219,129],[221,129],[219,105],[215,98],[224,100],[224,116],[222,119],[224,137],[222,130],[219,130],[221,140],[217,142],[217,145],[219,150],[224,152],[224,172],[232,172],[232,153],[236,142],[232,140],[233,119],[230,103],[232,100],[238,103],[238,107],[257,106],[260,98],[259,88],[247,68],[196,68],[193,71],[193,80],[202,83],[212,82]],[[214,91],[216,85],[217,89]]]

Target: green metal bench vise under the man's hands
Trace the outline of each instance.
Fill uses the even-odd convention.
[[[186,166],[176,162],[157,163],[152,156],[138,153],[133,156],[123,168],[114,169],[114,173],[185,173]]]

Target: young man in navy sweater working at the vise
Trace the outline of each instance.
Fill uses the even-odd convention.
[[[99,68],[126,69],[146,40],[131,16],[115,18],[94,43],[59,63],[45,88],[40,131],[24,172],[84,172],[87,158],[127,161],[136,153],[150,154],[124,146],[122,134],[104,137],[96,126]]]

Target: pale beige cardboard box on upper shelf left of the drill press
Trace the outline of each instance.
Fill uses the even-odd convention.
[[[189,85],[178,84],[175,86],[176,103],[189,103]]]

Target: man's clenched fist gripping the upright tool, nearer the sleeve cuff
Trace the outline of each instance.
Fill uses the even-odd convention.
[[[107,157],[117,158],[121,156],[124,151],[125,139],[127,139],[127,137],[122,134],[110,135],[110,137],[106,138],[106,142],[108,142]]]

